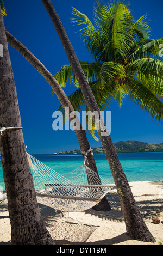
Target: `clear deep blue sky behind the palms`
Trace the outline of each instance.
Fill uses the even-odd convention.
[[[108,1],[105,1],[108,2]],[[52,0],[79,60],[91,61],[89,52],[83,45],[79,27],[72,26],[72,7],[92,19],[94,0]],[[64,48],[41,0],[4,0],[7,17],[4,25],[8,31],[26,45],[46,68],[55,74],[62,65],[69,64]],[[162,8],[160,0],[131,0],[131,10],[136,19],[148,14],[151,38],[163,37]],[[20,53],[9,46],[12,69],[14,70],[17,96],[22,118],[24,142],[30,154],[52,154],[57,151],[79,149],[73,131],[54,131],[52,114],[60,102],[52,96],[52,90],[45,79],[25,60]],[[64,89],[66,95],[73,92],[73,85]],[[148,143],[162,143],[162,126],[151,121],[134,102],[126,99],[119,109],[115,102],[106,109],[111,111],[111,138],[113,142],[136,140]],[[91,147],[101,147],[87,135]]]

